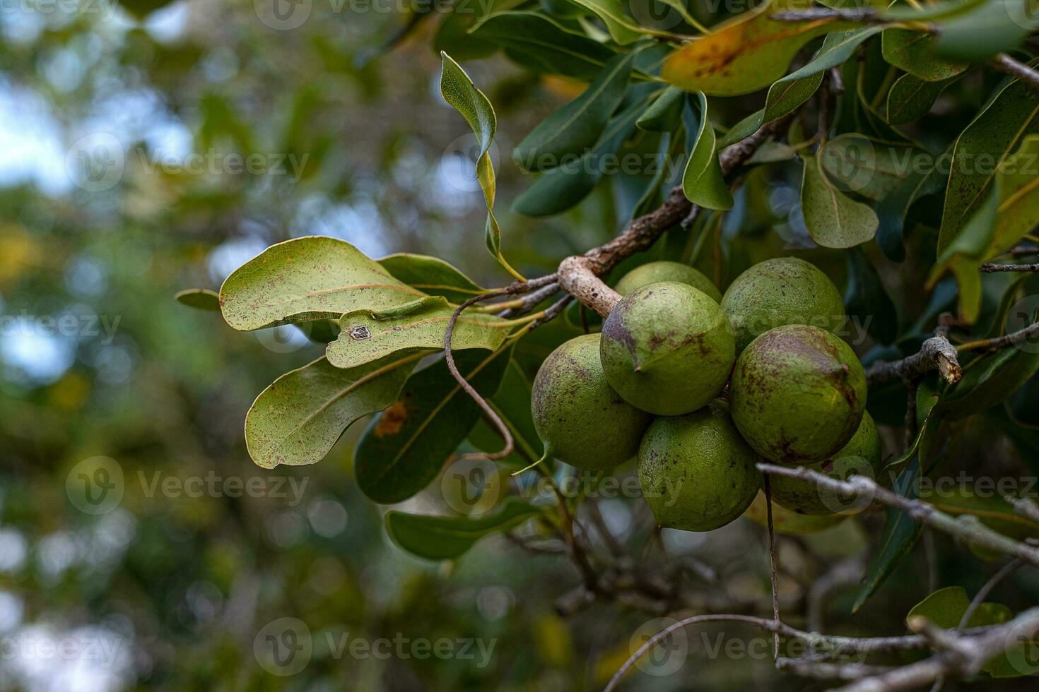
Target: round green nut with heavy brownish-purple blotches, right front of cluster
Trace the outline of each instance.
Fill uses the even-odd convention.
[[[848,444],[865,395],[865,373],[851,347],[807,325],[755,338],[729,381],[740,434],[762,456],[788,466],[821,462]]]

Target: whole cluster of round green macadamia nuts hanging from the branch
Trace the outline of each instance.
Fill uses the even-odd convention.
[[[656,261],[616,289],[602,333],[560,345],[534,380],[545,456],[589,470],[637,456],[658,524],[688,531],[743,515],[763,460],[841,478],[879,471],[865,373],[833,333],[844,305],[818,268],[769,259],[722,296],[691,267]],[[770,490],[796,515],[852,510],[808,481],[774,476]]]

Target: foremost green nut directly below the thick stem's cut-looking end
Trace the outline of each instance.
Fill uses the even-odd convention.
[[[606,378],[625,402],[674,416],[717,396],[736,360],[732,332],[714,300],[676,281],[624,296],[603,323]]]

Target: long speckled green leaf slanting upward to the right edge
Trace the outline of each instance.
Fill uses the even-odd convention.
[[[1011,81],[956,140],[938,236],[940,256],[991,192],[996,172],[1029,135],[1039,134],[1039,89]],[[1032,166],[1034,168],[1034,166]]]

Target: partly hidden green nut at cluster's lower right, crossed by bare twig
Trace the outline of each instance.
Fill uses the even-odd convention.
[[[873,417],[865,413],[855,435],[835,454],[807,468],[837,480],[853,475],[877,478],[880,473],[880,433]],[[858,514],[870,503],[868,497],[847,497],[810,480],[774,475],[769,478],[772,500],[799,515],[827,517]]]

